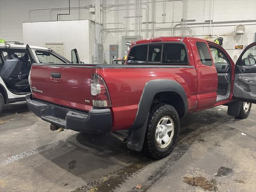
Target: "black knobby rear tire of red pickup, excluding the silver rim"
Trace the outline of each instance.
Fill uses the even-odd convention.
[[[156,127],[158,125],[158,122],[163,118],[164,116],[169,116],[172,118],[174,122],[174,135],[172,137],[172,140],[168,146],[165,148],[160,148],[158,144],[156,143]],[[148,118],[148,125],[146,130],[146,136],[144,140],[144,146],[143,151],[146,153],[146,155],[149,158],[153,159],[161,159],[170,154],[170,152],[173,150],[176,141],[178,139],[180,129],[180,119],[177,111],[175,108],[171,105],[160,103],[152,106],[150,110],[150,115]]]

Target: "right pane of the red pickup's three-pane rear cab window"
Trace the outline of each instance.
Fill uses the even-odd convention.
[[[184,45],[177,43],[164,44],[162,62],[168,64],[188,64]]]

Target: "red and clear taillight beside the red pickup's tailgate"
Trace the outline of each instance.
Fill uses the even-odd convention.
[[[110,107],[110,97],[108,88],[101,76],[92,74],[91,80],[91,96],[94,107]]]

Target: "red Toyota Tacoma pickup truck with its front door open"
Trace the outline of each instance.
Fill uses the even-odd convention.
[[[60,127],[102,134],[129,130],[128,148],[167,156],[185,114],[228,106],[246,118],[256,102],[256,42],[236,64],[218,44],[162,37],[132,44],[124,65],[32,65],[30,111]],[[32,58],[33,59],[33,58]]]

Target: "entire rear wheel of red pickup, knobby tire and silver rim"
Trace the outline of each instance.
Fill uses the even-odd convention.
[[[148,119],[144,151],[150,158],[161,159],[170,154],[177,141],[180,119],[175,108],[168,104],[152,107]]]

